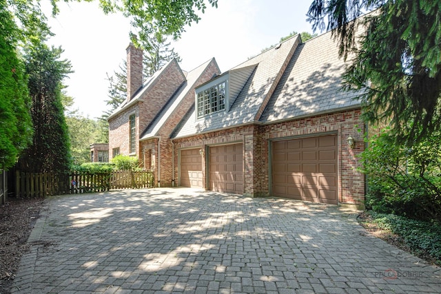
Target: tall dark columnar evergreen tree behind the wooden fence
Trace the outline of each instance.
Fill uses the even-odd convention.
[[[61,48],[48,48],[43,41],[37,39],[25,47],[34,138],[20,158],[19,167],[32,172],[61,172],[70,168],[71,160],[61,103],[62,81],[71,72],[70,63],[60,60]]]

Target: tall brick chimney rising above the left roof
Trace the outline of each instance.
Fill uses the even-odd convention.
[[[143,85],[143,50],[132,43],[127,47],[127,101]]]

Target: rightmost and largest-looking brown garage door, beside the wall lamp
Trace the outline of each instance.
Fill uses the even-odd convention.
[[[337,204],[337,136],[272,143],[274,196]]]

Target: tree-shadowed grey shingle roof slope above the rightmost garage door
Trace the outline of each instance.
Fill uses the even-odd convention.
[[[338,43],[327,32],[298,46],[271,96],[260,122],[301,118],[360,107],[360,92],[342,91],[345,61]]]

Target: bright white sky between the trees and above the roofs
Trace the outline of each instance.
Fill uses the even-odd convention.
[[[311,2],[218,0],[218,8],[200,12],[201,21],[187,26],[171,48],[181,56],[183,70],[193,70],[214,57],[221,72],[226,72],[293,31],[313,33],[306,20]],[[97,1],[59,2],[59,8],[56,18],[49,17],[55,34],[49,43],[61,46],[61,57],[74,70],[64,81],[65,92],[74,98],[72,108],[79,114],[100,117],[109,109],[107,74],[119,72],[127,56],[130,21],[121,14],[105,15]]]

